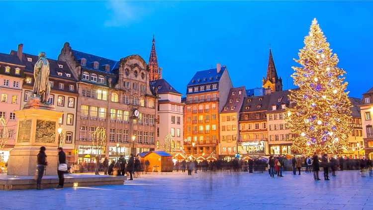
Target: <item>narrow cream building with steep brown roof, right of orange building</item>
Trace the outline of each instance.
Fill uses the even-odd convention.
[[[230,160],[237,154],[239,137],[238,116],[245,97],[245,87],[231,88],[228,99],[220,111],[220,158]]]

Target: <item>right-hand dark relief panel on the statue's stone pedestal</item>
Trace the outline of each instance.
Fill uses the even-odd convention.
[[[38,119],[36,120],[35,142],[54,143],[56,141],[56,122]]]

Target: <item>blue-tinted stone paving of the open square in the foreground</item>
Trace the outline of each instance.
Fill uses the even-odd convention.
[[[285,172],[282,178],[247,172],[147,174],[124,185],[8,191],[0,198],[4,210],[372,210],[373,178],[359,171],[338,171],[318,182],[304,172]]]

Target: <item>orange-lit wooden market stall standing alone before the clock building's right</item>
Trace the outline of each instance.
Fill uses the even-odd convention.
[[[172,155],[164,151],[150,151],[141,158],[141,163],[149,161],[147,172],[172,172],[174,163]]]

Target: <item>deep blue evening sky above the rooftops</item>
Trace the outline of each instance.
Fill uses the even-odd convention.
[[[118,60],[149,60],[156,37],[163,78],[178,91],[198,70],[226,65],[233,85],[262,85],[271,45],[284,89],[293,88],[292,60],[314,17],[347,71],[350,96],[373,86],[373,2],[349,1],[1,1],[0,52],[73,49]]]

